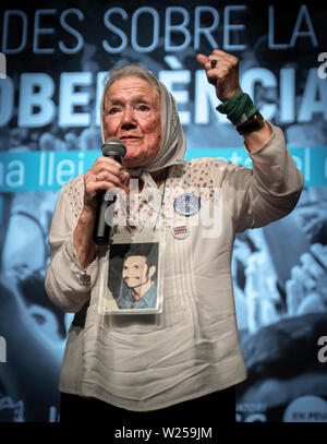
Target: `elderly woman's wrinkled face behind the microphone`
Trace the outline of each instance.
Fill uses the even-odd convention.
[[[143,79],[122,77],[105,99],[105,136],[126,145],[125,168],[147,165],[161,146],[161,101],[158,89]]]

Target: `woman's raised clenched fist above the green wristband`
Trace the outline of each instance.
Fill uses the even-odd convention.
[[[240,93],[239,59],[220,49],[214,49],[210,56],[198,53],[197,62],[206,70],[208,82],[216,86],[219,100],[226,101],[234,94]],[[216,60],[216,65],[211,61]]]

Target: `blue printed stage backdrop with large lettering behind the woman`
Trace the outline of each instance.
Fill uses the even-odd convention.
[[[33,3],[33,7],[31,5]],[[71,314],[44,289],[58,190],[100,154],[99,97],[123,63],[173,93],[186,157],[251,166],[197,52],[240,59],[305,190],[287,218],[238,235],[233,279],[249,379],[237,421],[327,421],[326,9],[251,1],[15,0],[0,12],[0,421],[56,421]],[[325,38],[325,40],[324,40]]]

